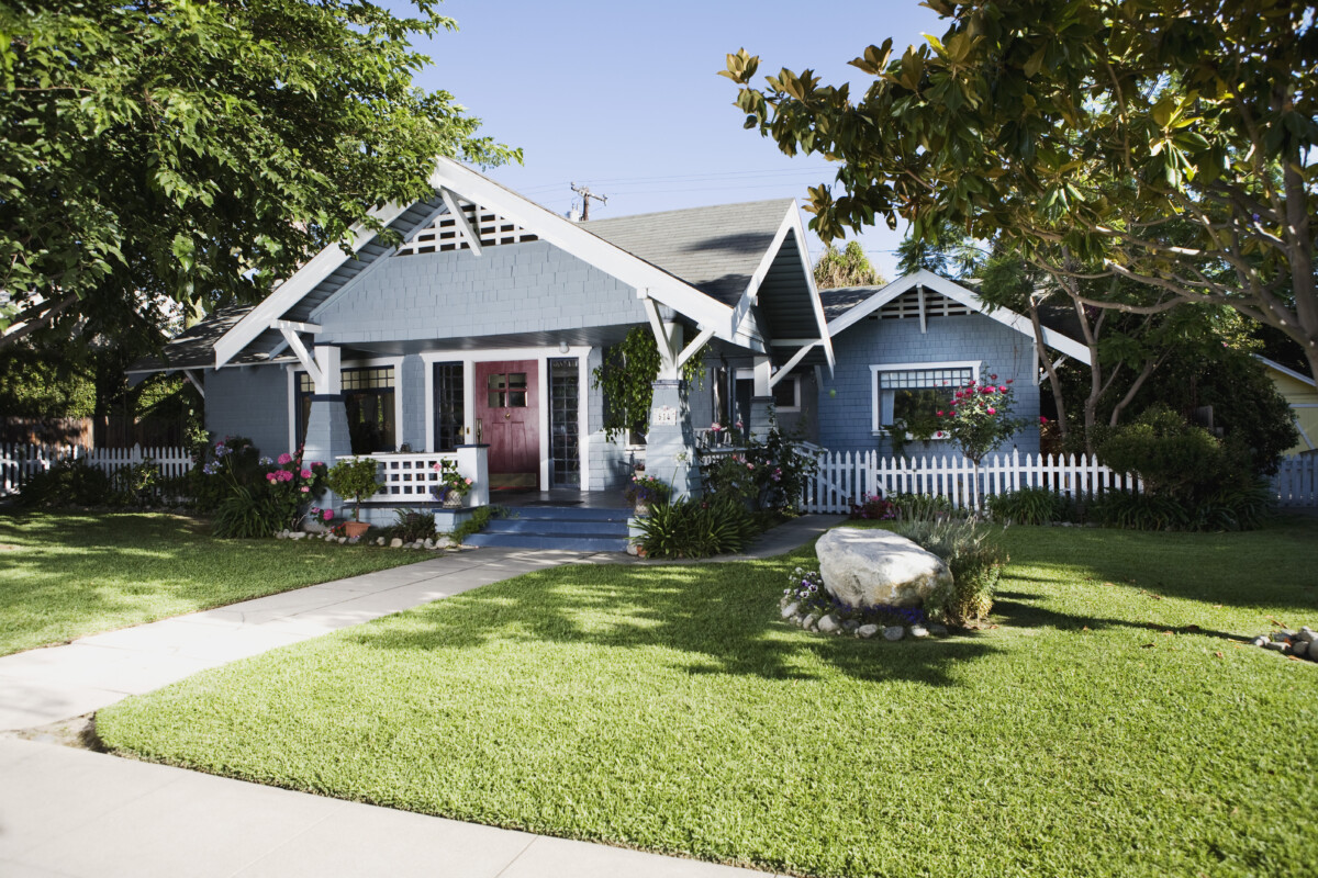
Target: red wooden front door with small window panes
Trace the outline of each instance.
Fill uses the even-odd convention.
[[[539,363],[476,363],[478,441],[490,446],[492,488],[529,487],[540,477]]]

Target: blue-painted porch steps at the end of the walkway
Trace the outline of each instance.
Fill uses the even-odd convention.
[[[490,519],[472,546],[564,549],[568,552],[626,552],[627,509],[577,507],[518,507],[506,519]]]

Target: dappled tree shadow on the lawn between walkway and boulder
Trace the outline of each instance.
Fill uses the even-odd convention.
[[[476,649],[510,640],[650,649],[689,674],[815,679],[818,663],[862,681],[948,686],[960,662],[996,648],[975,634],[888,644],[811,634],[783,623],[778,596],[799,563],[559,567],[348,634],[381,649]]]

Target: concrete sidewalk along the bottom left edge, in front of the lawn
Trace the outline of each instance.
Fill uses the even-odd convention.
[[[0,875],[764,878],[0,737]]]

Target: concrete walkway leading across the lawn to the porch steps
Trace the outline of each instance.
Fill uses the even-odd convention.
[[[0,731],[80,716],[239,658],[561,563],[614,555],[527,549],[419,563],[0,657]]]

